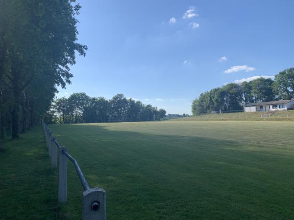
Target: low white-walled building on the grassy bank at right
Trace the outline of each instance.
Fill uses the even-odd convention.
[[[279,100],[272,102],[254,102],[244,106],[245,112],[251,111],[277,111],[277,110],[293,110],[294,99]]]

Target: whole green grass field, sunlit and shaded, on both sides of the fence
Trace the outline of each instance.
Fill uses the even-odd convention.
[[[49,127],[77,159],[90,186],[106,190],[108,220],[294,216],[293,122],[171,120]],[[57,175],[50,171],[42,136],[38,128],[20,141],[9,141],[0,154],[4,219],[17,219],[17,214],[38,219],[31,210],[25,216],[24,207],[39,204],[44,206],[44,212],[36,208],[39,219],[81,217],[83,189],[71,163],[68,203],[56,202]],[[32,190],[33,183],[37,187]],[[8,187],[13,197],[6,203]]]

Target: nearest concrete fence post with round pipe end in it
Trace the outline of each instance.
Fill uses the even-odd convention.
[[[106,220],[106,193],[102,188],[83,192],[83,220]]]

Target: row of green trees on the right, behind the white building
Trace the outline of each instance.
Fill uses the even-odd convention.
[[[293,95],[294,68],[288,68],[275,75],[274,80],[260,77],[203,92],[192,102],[192,112],[200,115],[220,110],[243,110],[248,103],[292,99]]]

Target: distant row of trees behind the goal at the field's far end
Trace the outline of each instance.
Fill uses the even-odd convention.
[[[90,97],[84,92],[73,93],[69,98],[56,99],[53,109],[58,114],[58,118],[53,121],[59,123],[156,121],[166,115],[164,109],[158,110],[152,105],[127,99],[123,94],[117,94],[107,100],[104,97]]]

